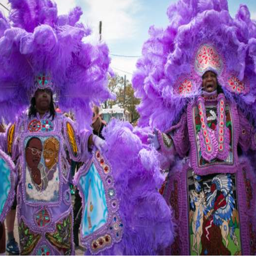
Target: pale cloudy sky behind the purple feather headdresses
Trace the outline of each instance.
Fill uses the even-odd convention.
[[[74,6],[81,6],[82,20],[92,27],[96,40],[99,33],[99,21],[102,20],[102,40],[111,54],[122,56],[140,56],[143,42],[148,38],[148,28],[152,25],[165,28],[168,25],[166,10],[177,0],[56,0],[59,14],[67,13]],[[7,0],[0,3],[8,6]],[[256,19],[255,0],[228,0],[232,17],[239,4],[247,4],[253,19]],[[0,6],[6,15],[8,12]],[[111,67],[115,72],[131,80],[138,58],[111,55]],[[121,71],[122,70],[122,71]]]

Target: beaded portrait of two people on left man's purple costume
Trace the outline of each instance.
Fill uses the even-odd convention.
[[[26,199],[32,202],[57,202],[60,190],[58,138],[28,136],[24,145]]]

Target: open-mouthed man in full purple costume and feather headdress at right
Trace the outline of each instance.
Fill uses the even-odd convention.
[[[176,236],[164,253],[255,255],[255,22],[245,5],[232,19],[225,0],[180,0],[168,17],[132,79],[169,170]]]

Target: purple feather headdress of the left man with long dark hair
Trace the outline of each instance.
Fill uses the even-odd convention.
[[[90,124],[90,103],[111,97],[107,45],[84,42],[91,31],[79,7],[58,15],[50,0],[10,4],[8,19],[0,13],[0,116],[14,120],[37,88],[48,87],[62,110],[76,111],[80,127]]]

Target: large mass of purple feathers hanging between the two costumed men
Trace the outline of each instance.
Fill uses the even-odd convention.
[[[171,210],[158,192],[164,177],[157,152],[141,143],[128,122],[112,120],[104,131],[124,223],[120,243],[104,255],[155,255],[173,241]]]

